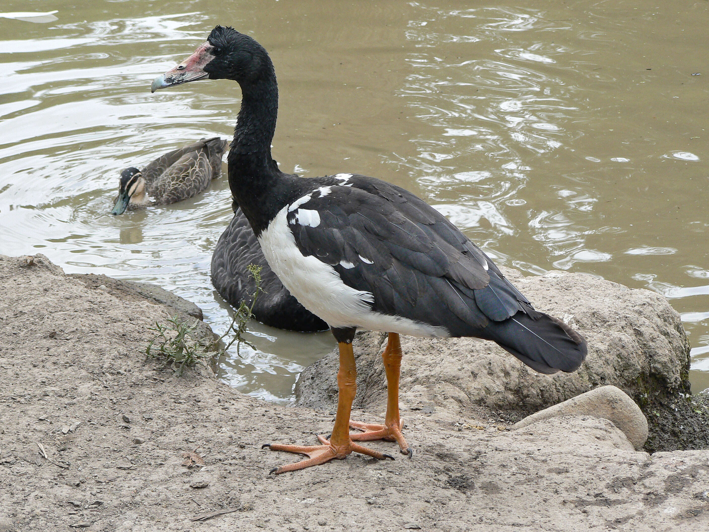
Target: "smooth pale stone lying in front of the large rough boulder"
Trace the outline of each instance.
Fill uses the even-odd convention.
[[[637,450],[642,449],[647,440],[647,419],[642,414],[640,406],[637,406],[622,389],[610,385],[592,389],[591,392],[549,406],[518,421],[515,426],[523,428],[549,418],[584,415],[613,421],[613,424],[623,431],[625,437]]]

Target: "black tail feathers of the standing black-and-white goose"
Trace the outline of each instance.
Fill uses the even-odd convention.
[[[539,313],[536,319],[523,311],[486,327],[490,339],[540,373],[572,372],[584,362],[586,340],[563,321]]]

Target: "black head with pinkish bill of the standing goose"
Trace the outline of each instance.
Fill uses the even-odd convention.
[[[155,78],[150,87],[174,87],[198,79],[233,79],[242,86],[273,74],[268,53],[249,35],[228,26],[216,26],[207,40],[177,67]]]

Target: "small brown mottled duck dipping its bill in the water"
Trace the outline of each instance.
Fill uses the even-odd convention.
[[[222,155],[227,146],[228,141],[219,137],[203,138],[157,157],[143,170],[126,168],[118,181],[118,196],[111,214],[196,196],[221,174]]]

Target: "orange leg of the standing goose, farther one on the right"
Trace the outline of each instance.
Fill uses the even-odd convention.
[[[350,434],[350,438],[356,441],[386,440],[396,441],[401,448],[401,453],[413,456],[413,449],[408,446],[401,433],[403,421],[398,410],[398,381],[401,372],[401,343],[397,333],[389,333],[389,341],[386,349],[381,354],[384,359],[384,370],[386,371],[386,417],[384,425],[377,423],[359,423],[350,421],[350,427],[362,431]]]

